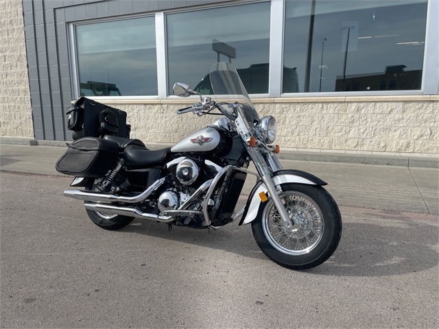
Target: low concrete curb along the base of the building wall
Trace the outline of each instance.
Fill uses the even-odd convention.
[[[72,141],[43,141],[33,138],[0,137],[0,144],[27,145],[27,146],[56,146],[67,147]],[[148,143],[150,149],[170,147],[169,143]],[[353,164],[372,164],[379,166],[439,168],[439,158],[416,156],[377,156],[372,154],[333,154],[323,152],[282,151],[278,154],[280,160],[337,162]]]

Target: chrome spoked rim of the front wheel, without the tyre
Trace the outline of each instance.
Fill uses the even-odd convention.
[[[287,191],[279,197],[295,229],[285,228],[276,206],[270,201],[262,215],[263,232],[268,242],[283,254],[307,254],[322,239],[322,211],[313,199],[297,191]]]

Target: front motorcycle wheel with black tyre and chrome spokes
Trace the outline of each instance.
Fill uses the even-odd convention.
[[[333,197],[321,186],[283,184],[279,195],[294,228],[283,226],[270,199],[252,221],[262,252],[288,269],[309,269],[327,260],[342,237],[342,216]]]

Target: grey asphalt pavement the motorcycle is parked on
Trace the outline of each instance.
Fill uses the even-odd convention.
[[[439,326],[435,215],[342,206],[337,251],[291,271],[250,226],[134,220],[109,232],[62,195],[69,178],[0,180],[1,328]]]

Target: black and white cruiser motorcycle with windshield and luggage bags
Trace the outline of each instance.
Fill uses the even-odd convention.
[[[340,210],[322,187],[327,183],[282,168],[273,144],[276,119],[259,118],[231,64],[214,64],[209,78],[217,101],[187,84],[174,85],[174,95],[200,97],[177,114],[221,118],[170,148],[150,150],[138,139],[117,136],[117,129],[102,130],[117,128],[110,110],[123,111],[100,112],[99,136],[82,132],[57,162],[58,171],[75,176],[71,186],[85,187],[64,195],[84,200],[88,217],[106,230],[134,218],[215,229],[240,219],[239,226],[251,224],[262,252],[278,265],[309,269],[324,263],[342,235]],[[250,162],[256,171],[248,169]],[[235,211],[248,174],[257,176],[257,184],[246,206]]]

